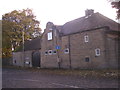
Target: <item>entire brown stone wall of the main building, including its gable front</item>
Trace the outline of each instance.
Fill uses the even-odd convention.
[[[53,24],[49,25],[49,28],[52,26]],[[49,28],[45,29],[41,42],[42,68],[58,68],[59,64],[61,68],[102,69],[116,67],[118,44],[106,36],[106,28],[66,36],[60,36],[60,30],[50,30]],[[52,40],[47,39],[49,32],[52,32]],[[85,40],[86,36],[88,41]],[[60,49],[56,49],[56,46],[59,46]],[[48,54],[49,50],[52,51],[51,55]],[[53,54],[54,50],[56,50],[56,54]],[[66,50],[68,50],[67,53]],[[100,55],[96,55],[98,50],[100,50]]]

